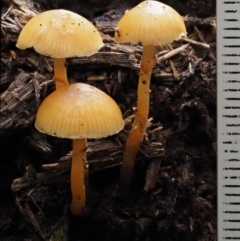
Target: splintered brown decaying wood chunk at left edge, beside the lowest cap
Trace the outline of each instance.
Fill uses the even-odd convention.
[[[0,96],[1,132],[31,125],[35,118],[33,112],[36,113],[40,103],[38,91],[43,91],[50,83],[52,80],[38,73],[20,73]]]

